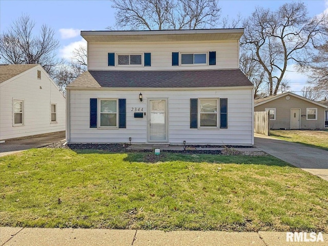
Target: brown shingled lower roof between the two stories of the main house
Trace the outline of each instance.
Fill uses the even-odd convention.
[[[253,86],[239,70],[86,71],[69,88],[203,88]]]

